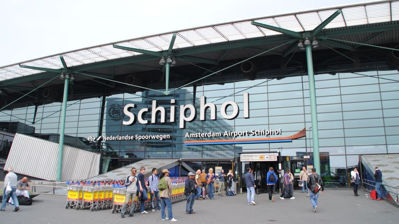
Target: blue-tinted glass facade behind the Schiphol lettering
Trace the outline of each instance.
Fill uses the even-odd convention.
[[[369,71],[316,75],[316,95],[320,152],[329,157],[332,174],[358,164],[360,154],[399,153],[399,74],[397,71]],[[73,88],[73,87],[72,87]],[[249,93],[250,118],[243,114],[243,93]],[[217,107],[217,119],[199,120],[200,96]],[[170,100],[176,100],[176,122],[169,122]],[[136,105],[134,112],[151,108],[152,100],[166,108],[166,123],[135,123],[128,120],[123,107]],[[237,118],[223,119],[221,105],[234,101],[240,107]],[[170,96],[153,92],[125,93],[106,97],[104,118],[102,98],[69,101],[65,133],[87,139],[99,136],[166,134],[170,139],[141,141],[103,141],[101,150],[111,151],[112,159],[131,158],[234,158],[242,151],[280,151],[282,156],[312,152],[309,85],[307,76],[280,80],[251,80],[218,85],[197,86],[174,92]],[[197,117],[179,128],[180,105],[195,104]],[[0,112],[0,122],[21,122],[35,128],[35,133],[57,134],[61,103],[29,106]],[[232,108],[228,107],[227,113]],[[157,120],[160,119],[157,114]],[[144,118],[151,120],[151,109]],[[102,121],[102,124],[101,124]],[[186,146],[187,132],[246,131],[282,129],[290,136],[306,128],[307,137],[285,143]],[[198,140],[198,139],[195,139]]]

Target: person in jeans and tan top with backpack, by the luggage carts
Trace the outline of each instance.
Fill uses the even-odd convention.
[[[160,192],[160,197],[161,197],[161,218],[162,220],[170,220],[171,222],[176,222],[177,219],[173,218],[173,213],[172,213],[172,201],[170,200],[170,197],[172,196],[172,181],[169,178],[169,170],[163,169],[162,170],[162,176],[161,180],[159,181],[160,184],[161,182],[166,183],[165,189],[161,190]],[[165,208],[168,209],[168,218],[166,218],[165,215]]]

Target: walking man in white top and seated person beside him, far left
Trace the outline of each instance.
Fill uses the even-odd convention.
[[[30,198],[29,190],[29,179],[27,177],[23,177],[18,181],[17,174],[14,173],[11,168],[9,168],[8,173],[4,178],[3,199],[0,211],[5,211],[8,198],[10,198],[8,202],[14,205],[14,211],[19,211],[18,196]]]

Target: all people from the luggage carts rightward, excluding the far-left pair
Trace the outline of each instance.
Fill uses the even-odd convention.
[[[177,221],[173,217],[172,212],[172,202],[171,202],[171,194],[172,194],[172,184],[169,178],[169,171],[167,169],[162,170],[161,176],[158,176],[157,170],[155,168],[152,169],[152,174],[148,178],[148,182],[144,180],[145,168],[140,168],[140,173],[136,175],[136,168],[132,168],[131,175],[126,179],[127,193],[126,196],[134,198],[137,194],[140,200],[140,212],[142,214],[146,214],[144,208],[144,202],[147,198],[147,189],[150,191],[150,200],[151,207],[153,211],[161,210],[161,218],[162,220],[169,219],[170,221]],[[248,205],[256,205],[255,202],[255,179],[254,179],[254,170],[250,167],[248,168],[248,172],[244,175],[246,187],[247,187],[247,202]],[[376,179],[376,189],[381,197],[381,182],[382,182],[382,173],[376,168],[375,171],[375,179]],[[193,210],[193,205],[195,200],[199,199],[214,199],[215,192],[215,181],[219,181],[219,193],[223,193],[226,191],[226,195],[229,195],[228,192],[234,192],[234,174],[232,170],[229,170],[228,174],[224,174],[224,170],[221,170],[219,174],[215,174],[213,169],[210,168],[208,173],[205,170],[197,170],[196,173],[189,172],[188,178],[185,181],[184,194],[186,196],[186,213],[187,214],[195,214]],[[270,167],[269,171],[266,175],[266,183],[267,183],[267,191],[269,200],[274,202],[273,193],[277,183],[281,183],[281,195],[280,199],[295,199],[293,195],[293,183],[294,183],[294,175],[291,173],[289,169],[286,169],[281,178],[274,172],[274,168]],[[311,174],[308,173],[306,167],[302,168],[302,171],[299,174],[299,186],[302,187],[302,192],[308,193],[310,201],[312,203],[312,209],[314,212],[317,211],[318,206],[318,198],[319,192],[324,191],[324,183],[321,179],[320,175],[316,173],[316,169],[312,168]],[[358,196],[358,185],[360,184],[360,176],[359,172],[355,168],[351,172],[351,182],[354,187],[354,194]],[[381,199],[379,199],[381,200]],[[129,201],[129,200],[126,200]],[[134,204],[134,203],[133,203]],[[161,205],[161,206],[160,206]],[[121,216],[125,217],[127,208],[127,202],[122,208]],[[135,206],[133,205],[130,208],[129,216],[134,215]],[[168,217],[166,217],[166,209],[168,210]]]

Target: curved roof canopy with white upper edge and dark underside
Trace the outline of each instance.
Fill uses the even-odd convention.
[[[74,79],[69,100],[163,91],[169,79],[173,90],[304,75],[301,43],[262,24],[306,36],[331,15],[334,18],[311,39],[318,46],[313,50],[316,74],[398,68],[399,2],[379,1],[180,30],[0,67],[0,107],[62,101],[63,81],[58,77],[63,72]],[[168,58],[174,65],[170,78],[160,65]],[[24,94],[29,97],[7,105]]]

